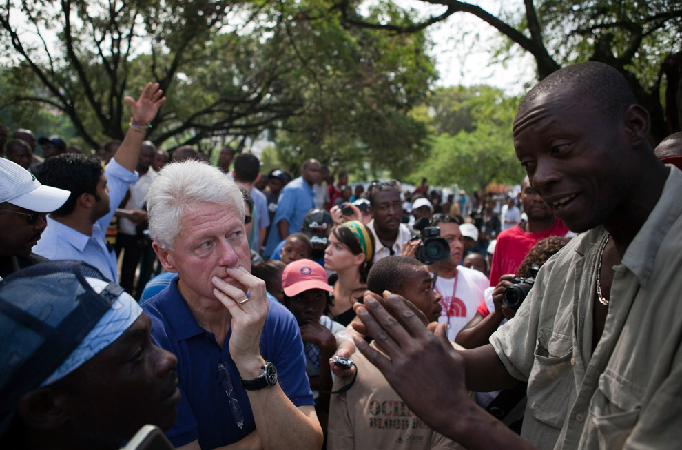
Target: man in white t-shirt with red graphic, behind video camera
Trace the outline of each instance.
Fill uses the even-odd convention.
[[[434,274],[435,291],[442,296],[440,304],[443,309],[438,321],[448,324],[448,339],[451,341],[476,314],[476,307],[484,299],[484,291],[489,284],[481,272],[459,265],[464,254],[464,236],[459,231],[459,224],[459,218],[451,214],[435,214],[431,221],[431,226],[440,229],[440,236],[450,247],[449,257],[428,265],[428,270]],[[431,247],[426,246],[422,253],[428,255],[432,252]]]

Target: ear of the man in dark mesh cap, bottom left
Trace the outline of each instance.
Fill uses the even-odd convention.
[[[17,413],[29,429],[58,429],[68,421],[65,396],[68,394],[50,387],[30,391],[19,400]]]

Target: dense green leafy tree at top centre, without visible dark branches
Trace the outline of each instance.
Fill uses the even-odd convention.
[[[304,5],[306,3],[304,2]],[[317,157],[349,172],[409,174],[427,152],[426,127],[409,114],[435,78],[423,33],[389,37],[375,30],[343,28],[331,3],[310,1],[308,21],[287,28],[309,81],[304,114],[291,116],[277,135],[277,152],[292,173]],[[317,9],[316,9],[317,8]],[[370,10],[408,20],[391,4]]]

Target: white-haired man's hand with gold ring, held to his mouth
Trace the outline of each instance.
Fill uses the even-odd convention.
[[[251,275],[244,267],[228,267],[227,274],[248,289],[247,297],[242,289],[213,278],[214,294],[231,315],[229,352],[240,372],[242,369],[259,371],[260,334],[265,325],[269,303],[265,294],[265,281]],[[256,365],[257,367],[251,367]],[[245,368],[243,365],[248,364]],[[241,367],[240,367],[241,366]],[[246,375],[245,375],[246,376]]]

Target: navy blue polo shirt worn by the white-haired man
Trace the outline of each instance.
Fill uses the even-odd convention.
[[[239,381],[239,371],[229,355],[229,338],[221,349],[214,334],[196,323],[187,303],[178,291],[178,278],[142,309],[152,320],[152,340],[178,357],[176,370],[183,399],[178,404],[178,419],[166,436],[174,447],[198,438],[202,449],[234,444],[256,429],[247,392]],[[217,301],[217,300],[216,300]],[[300,329],[289,310],[270,302],[260,337],[260,354],[273,362],[282,390],[297,407],[313,405],[313,395],[305,374],[305,355]],[[218,365],[229,371],[234,395],[244,418],[239,428],[230,409]]]

